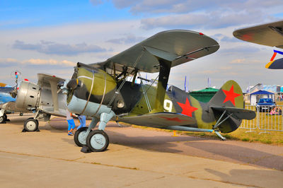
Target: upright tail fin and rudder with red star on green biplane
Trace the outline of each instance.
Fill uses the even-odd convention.
[[[236,81],[227,81],[224,83],[224,85],[209,101],[208,105],[214,112],[214,117],[216,119],[214,129],[217,128],[223,133],[229,133],[238,129],[241,125],[242,119],[246,119],[246,117],[253,117],[253,115],[245,116],[242,114],[246,113],[246,111],[243,112],[243,93]],[[240,113],[241,115],[236,115]],[[250,113],[253,114],[254,112]],[[222,122],[224,119],[226,120]]]

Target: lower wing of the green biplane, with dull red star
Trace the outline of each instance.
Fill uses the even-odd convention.
[[[168,127],[196,124],[196,120],[192,117],[171,112],[158,112],[139,116],[120,117],[119,120],[129,124],[137,124],[146,127]]]

